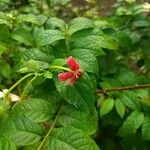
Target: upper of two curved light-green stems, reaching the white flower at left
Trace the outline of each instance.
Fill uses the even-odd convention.
[[[30,73],[30,74],[27,74],[25,76],[23,76],[20,80],[18,80],[15,84],[13,84],[9,89],[8,91],[4,94],[4,98],[6,98],[9,93],[19,84],[21,83],[23,80],[25,80],[26,78],[32,76],[34,73]]]

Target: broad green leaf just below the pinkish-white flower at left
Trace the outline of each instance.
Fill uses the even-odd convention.
[[[15,116],[26,116],[35,122],[43,122],[52,117],[51,104],[42,99],[26,99],[13,109]]]

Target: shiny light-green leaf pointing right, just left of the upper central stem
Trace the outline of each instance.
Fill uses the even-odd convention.
[[[52,44],[53,42],[64,39],[62,32],[58,30],[45,30],[37,34],[36,44],[37,46],[44,46]]]

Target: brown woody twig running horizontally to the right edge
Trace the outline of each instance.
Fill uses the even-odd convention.
[[[126,90],[131,90],[131,89],[144,89],[144,88],[150,88],[150,84],[143,84],[143,85],[131,85],[131,86],[126,86],[126,87],[117,87],[117,88],[111,88],[111,89],[102,89],[96,90],[96,93],[108,93],[108,92],[113,92],[113,91],[126,91]]]

